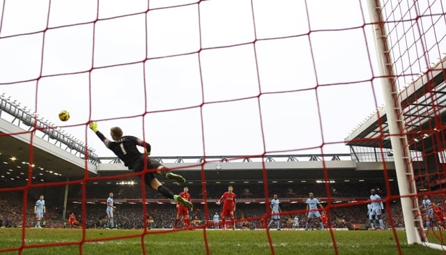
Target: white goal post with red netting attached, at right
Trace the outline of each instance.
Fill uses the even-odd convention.
[[[374,29],[376,57],[380,72],[380,78],[378,79],[383,91],[384,107],[394,154],[407,241],[409,245],[418,243],[433,249],[445,250],[446,246],[444,245],[430,243],[424,233],[422,213],[418,206],[417,186],[406,136],[406,123],[403,118],[401,98],[399,97],[399,90],[396,84],[397,76],[394,73],[390,46],[387,41],[388,35],[385,28],[383,9],[380,5],[380,0],[368,0],[367,6]]]

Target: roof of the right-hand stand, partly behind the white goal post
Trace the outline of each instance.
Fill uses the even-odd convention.
[[[446,58],[439,61],[428,72],[420,75],[399,93],[403,119],[410,150],[426,153],[440,145],[445,139],[431,137],[439,132],[444,137],[446,123]],[[431,139],[426,139],[431,137]],[[435,140],[434,140],[435,139]],[[345,139],[348,146],[392,148],[385,108],[381,107],[358,125]],[[435,142],[434,142],[435,141]],[[423,143],[422,146],[420,143]]]

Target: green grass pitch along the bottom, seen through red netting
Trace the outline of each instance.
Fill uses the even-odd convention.
[[[334,242],[336,240],[334,249]],[[107,238],[112,238],[107,240]],[[204,241],[208,240],[207,245]],[[401,254],[446,254],[407,245],[397,231]],[[399,254],[392,231],[184,231],[121,229],[0,229],[0,255],[12,254]],[[271,240],[272,246],[269,240]],[[44,245],[43,247],[36,247]],[[54,246],[57,245],[57,246]],[[20,251],[20,247],[24,247]],[[6,252],[6,249],[16,249]],[[81,252],[82,250],[82,252]]]

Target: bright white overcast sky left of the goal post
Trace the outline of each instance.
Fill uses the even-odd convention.
[[[1,13],[0,92],[100,157],[113,154],[90,120],[155,156],[348,153],[383,103],[364,1],[0,0]]]

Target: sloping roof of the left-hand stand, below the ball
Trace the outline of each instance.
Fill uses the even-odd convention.
[[[31,139],[33,146],[30,146]],[[84,176],[85,167],[91,170],[91,176],[98,176],[96,166],[79,155],[37,134],[31,137],[31,132],[0,118],[0,181],[3,183],[26,184],[30,167],[33,184],[79,180]]]

